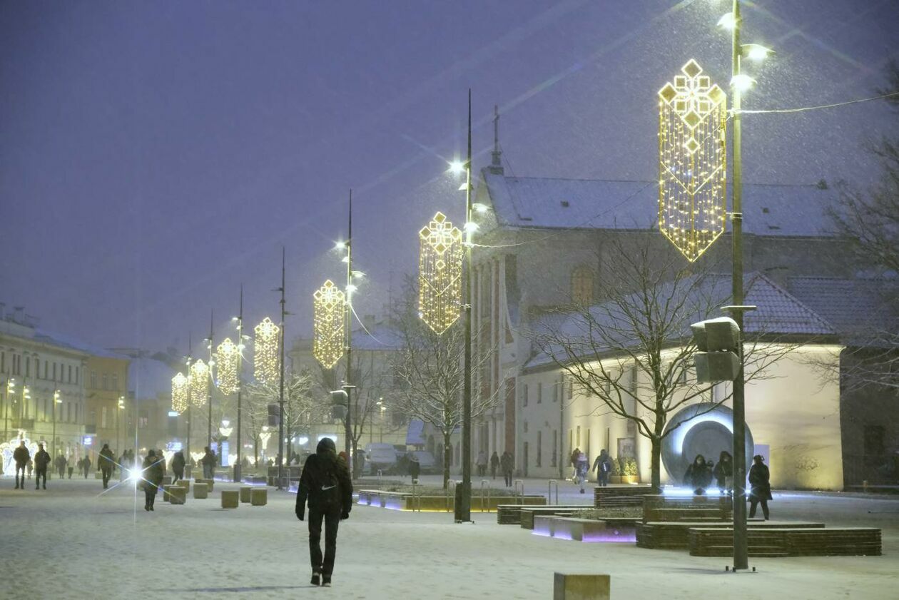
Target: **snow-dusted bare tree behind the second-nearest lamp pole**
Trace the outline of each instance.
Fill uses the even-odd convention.
[[[446,488],[452,456],[450,438],[462,424],[463,416],[464,324],[459,320],[442,335],[435,334],[419,318],[418,287],[412,278],[406,279],[405,293],[393,311],[393,322],[402,343],[402,349],[396,353],[394,370],[403,381],[393,402],[396,410],[432,425],[443,436],[443,488]],[[481,360],[475,357],[472,372],[477,372],[480,366],[477,362]],[[495,392],[489,396],[473,393],[471,418],[485,415],[498,401]]]

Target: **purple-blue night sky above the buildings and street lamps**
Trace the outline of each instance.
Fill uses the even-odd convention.
[[[475,166],[500,106],[506,173],[654,180],[655,93],[689,58],[730,73],[724,0],[4,2],[0,301],[107,346],[187,349],[216,314],[274,320],[287,248],[288,336],[343,264],[352,187],[357,312],[415,267],[435,210],[458,221],[473,89]],[[745,2],[745,109],[877,94],[899,58],[894,0]],[[751,183],[869,184],[883,102],[744,118]],[[230,332],[229,332],[230,334]]]

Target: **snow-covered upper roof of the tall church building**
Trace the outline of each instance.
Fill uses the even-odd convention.
[[[487,170],[482,176],[500,227],[645,229],[658,219],[654,181],[508,177]],[[818,185],[745,184],[743,231],[829,235],[825,208],[834,201],[834,191]]]

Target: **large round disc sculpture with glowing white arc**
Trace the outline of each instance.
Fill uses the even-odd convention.
[[[683,483],[683,475],[697,454],[717,464],[722,450],[733,453],[733,449],[734,411],[710,402],[692,404],[681,408],[665,425],[662,464],[672,482]],[[752,465],[754,449],[752,432],[746,425],[747,473]]]

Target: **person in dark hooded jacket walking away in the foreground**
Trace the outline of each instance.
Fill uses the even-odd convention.
[[[330,586],[337,554],[337,525],[350,518],[352,480],[346,461],[337,457],[334,440],[322,438],[316,453],[303,465],[297,489],[297,518],[302,521],[309,505],[309,560],[313,586]],[[325,556],[319,544],[325,521]]]

